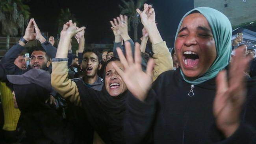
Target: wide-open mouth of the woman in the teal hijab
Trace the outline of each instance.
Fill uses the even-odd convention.
[[[185,51],[183,53],[183,63],[185,64],[186,67],[193,67],[197,65],[199,62],[199,56],[197,53],[192,52],[192,51]]]

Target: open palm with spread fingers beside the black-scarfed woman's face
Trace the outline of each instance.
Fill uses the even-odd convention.
[[[141,68],[141,52],[139,50],[139,44],[135,44],[135,58],[132,57],[131,45],[129,42],[125,42],[126,57],[122,53],[120,48],[117,49],[120,61],[124,66],[124,71],[122,71],[115,63],[113,66],[115,70],[124,80],[128,90],[139,100],[144,101],[147,92],[150,89],[152,83],[152,70],[154,65],[154,60],[150,59],[147,65],[146,73],[142,71]]]

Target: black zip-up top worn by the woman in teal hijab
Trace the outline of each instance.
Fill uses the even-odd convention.
[[[215,78],[199,85],[183,80],[180,68],[163,72],[152,84],[145,102],[127,98],[124,132],[129,144],[241,144],[256,141],[256,81],[247,81],[247,102],[241,126],[225,139],[213,116]],[[254,141],[253,141],[254,138]],[[250,144],[251,144],[250,143]]]

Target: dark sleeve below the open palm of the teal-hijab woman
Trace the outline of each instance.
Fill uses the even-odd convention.
[[[128,94],[124,118],[124,135],[127,144],[152,143],[156,104],[154,90],[148,92],[145,102],[141,102],[131,93]]]

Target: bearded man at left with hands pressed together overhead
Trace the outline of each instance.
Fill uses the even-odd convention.
[[[1,63],[6,69],[7,74],[23,74],[27,70],[21,70],[19,67],[14,65],[15,59],[24,50],[24,46],[33,40],[41,42],[43,48],[36,48],[31,54],[30,68],[32,69],[43,69],[47,70],[50,66],[50,58],[54,58],[56,55],[56,48],[46,41],[41,34],[35,20],[32,18],[28,23],[25,31],[25,35],[15,44],[9,51],[4,55]],[[29,69],[30,69],[29,68]]]

